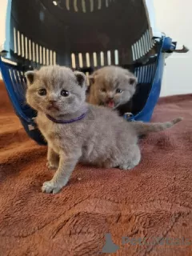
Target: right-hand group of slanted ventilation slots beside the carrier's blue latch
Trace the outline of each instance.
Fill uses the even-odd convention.
[[[133,61],[138,60],[146,55],[154,46],[153,39],[150,38],[149,30],[146,30],[146,33],[142,35],[137,42],[134,43],[132,48]]]

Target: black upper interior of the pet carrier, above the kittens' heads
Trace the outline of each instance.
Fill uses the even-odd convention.
[[[130,66],[153,47],[149,24],[143,0],[13,0],[10,49],[26,66]]]

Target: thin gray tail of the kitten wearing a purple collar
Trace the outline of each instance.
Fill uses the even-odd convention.
[[[161,130],[166,130],[176,123],[181,122],[183,118],[175,118],[170,122],[130,122],[131,126],[137,131],[138,135],[155,133]]]

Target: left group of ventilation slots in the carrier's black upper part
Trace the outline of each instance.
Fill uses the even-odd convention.
[[[14,28],[14,54],[39,65],[55,65],[56,52],[40,46]]]

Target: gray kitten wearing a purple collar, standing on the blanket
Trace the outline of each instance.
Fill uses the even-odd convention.
[[[58,193],[78,162],[130,170],[141,159],[138,134],[165,130],[165,123],[126,122],[103,106],[86,103],[86,76],[62,66],[26,72],[26,100],[38,111],[36,122],[48,142],[47,166],[57,169],[42,191]]]

